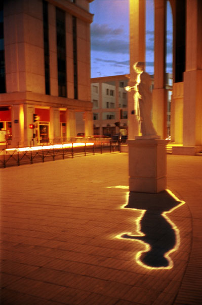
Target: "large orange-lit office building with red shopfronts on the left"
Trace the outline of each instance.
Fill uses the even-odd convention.
[[[78,112],[83,112],[86,135],[93,134],[91,1],[1,4],[1,143],[64,142],[76,136]]]

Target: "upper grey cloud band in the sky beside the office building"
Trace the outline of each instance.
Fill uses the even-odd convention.
[[[110,28],[108,24],[92,23],[91,37],[103,38],[106,36],[118,36],[124,34],[123,27]]]

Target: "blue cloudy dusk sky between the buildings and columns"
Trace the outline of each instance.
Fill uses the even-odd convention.
[[[94,0],[91,24],[91,77],[129,74],[129,0]],[[168,6],[167,72],[172,62],[172,22]],[[154,5],[146,0],[146,71],[153,74]]]

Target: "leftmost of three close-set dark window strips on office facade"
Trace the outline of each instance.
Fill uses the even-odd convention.
[[[50,94],[50,56],[49,56],[49,15],[48,2],[43,1],[44,23],[44,64],[45,64],[45,87],[46,94]]]

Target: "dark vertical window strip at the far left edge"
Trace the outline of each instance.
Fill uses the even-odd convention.
[[[3,2],[0,4],[0,93],[6,93]]]

